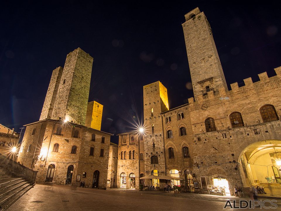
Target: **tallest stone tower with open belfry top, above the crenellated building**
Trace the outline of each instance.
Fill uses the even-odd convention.
[[[225,76],[209,22],[199,8],[185,15],[182,24],[195,100],[227,90]]]

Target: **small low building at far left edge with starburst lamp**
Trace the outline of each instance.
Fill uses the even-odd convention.
[[[16,161],[16,154],[20,146],[18,144],[19,137],[20,135],[14,129],[0,124],[0,153]]]

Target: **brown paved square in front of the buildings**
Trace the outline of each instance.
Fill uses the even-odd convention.
[[[137,190],[73,188],[72,186],[46,186],[36,184],[8,211],[49,211],[49,210],[225,210],[224,206],[235,197],[203,194],[165,193]],[[264,200],[264,199],[263,199]],[[277,200],[281,210],[281,200]],[[257,208],[256,208],[257,209]],[[227,210],[238,210],[227,208]],[[245,209],[244,209],[245,210]],[[258,209],[261,210],[261,209]],[[266,210],[266,209],[264,209]]]

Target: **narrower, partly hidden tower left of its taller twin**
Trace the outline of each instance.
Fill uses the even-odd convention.
[[[58,93],[59,83],[61,82],[61,75],[63,70],[64,69],[62,67],[57,67],[53,70],[40,120],[52,118],[53,108],[56,101],[56,95]]]

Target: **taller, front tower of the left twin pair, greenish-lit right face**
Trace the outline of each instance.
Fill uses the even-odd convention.
[[[85,125],[93,58],[77,48],[66,56],[52,119]]]

